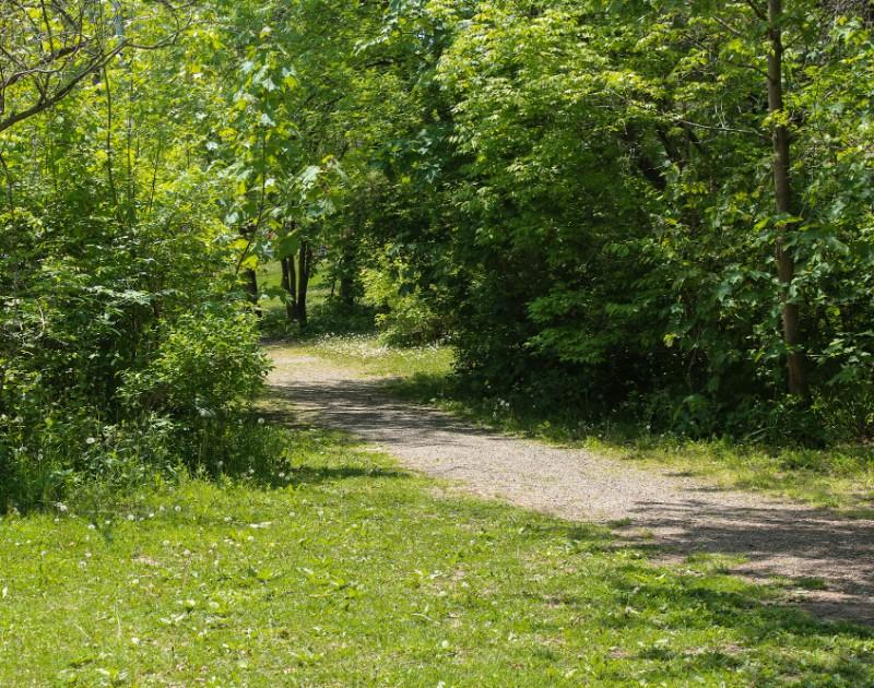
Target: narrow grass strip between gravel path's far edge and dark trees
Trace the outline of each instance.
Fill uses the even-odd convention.
[[[874,518],[873,446],[769,449],[730,440],[659,436],[616,423],[584,425],[572,413],[564,417],[534,414],[499,400],[464,395],[452,384],[452,351],[446,346],[397,349],[380,345],[373,336],[326,337],[302,346],[365,375],[393,376],[388,387],[394,393],[505,432],[576,444],[640,464],[670,466],[722,487],[792,497],[850,517]]]

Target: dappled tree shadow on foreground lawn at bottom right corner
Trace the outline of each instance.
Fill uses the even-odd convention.
[[[587,525],[531,529],[532,537],[566,537],[571,551],[613,553],[617,558],[599,571],[594,591],[579,574],[563,573],[548,594],[525,592],[523,596],[550,607],[567,607],[582,615],[590,628],[613,629],[616,647],[611,659],[658,663],[658,669],[648,676],[653,681],[690,680],[695,674],[741,669],[744,685],[783,686],[790,677],[793,685],[872,685],[874,628],[869,624],[874,617],[865,617],[864,609],[854,618],[824,620],[805,607],[786,603],[779,583],[737,580],[727,574],[718,560],[707,558],[682,569],[653,566],[645,550],[616,548],[616,541],[605,532]],[[569,558],[572,561],[572,555]],[[672,647],[672,631],[680,629],[700,630],[710,638],[724,631],[725,641],[711,648]],[[624,642],[626,638],[652,638],[653,630],[656,639],[650,642]],[[781,640],[775,644],[776,638]],[[772,651],[751,664],[748,651],[763,645]]]

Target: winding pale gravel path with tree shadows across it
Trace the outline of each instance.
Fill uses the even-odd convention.
[[[654,556],[742,555],[734,571],[825,581],[798,590],[811,610],[874,624],[874,521],[723,490],[669,470],[640,470],[580,449],[550,447],[471,427],[380,391],[380,380],[295,349],[271,349],[270,384],[303,419],[347,430],[410,468],[461,489],[569,520],[612,524]],[[807,585],[810,586],[810,585]]]

